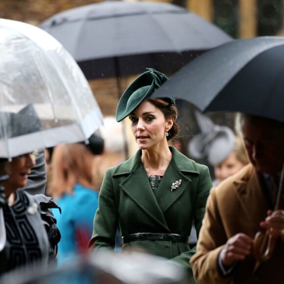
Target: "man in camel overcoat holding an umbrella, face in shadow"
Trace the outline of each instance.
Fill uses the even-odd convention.
[[[211,189],[197,253],[190,260],[193,274],[199,284],[283,283],[284,211],[274,209],[284,123],[241,114],[239,126],[251,164]],[[257,232],[275,243],[269,260],[257,261]]]

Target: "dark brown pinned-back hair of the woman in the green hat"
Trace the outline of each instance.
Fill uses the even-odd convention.
[[[149,102],[151,102],[154,106],[161,110],[166,119],[173,118],[173,125],[168,131],[169,135],[166,137],[166,140],[169,141],[170,139],[174,138],[179,132],[179,128],[176,122],[176,118],[178,115],[178,110],[176,106],[170,98],[154,98],[149,99]]]

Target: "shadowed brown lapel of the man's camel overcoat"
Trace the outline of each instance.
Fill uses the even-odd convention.
[[[256,226],[255,230],[259,230],[260,221],[265,219],[268,206],[256,170],[252,165],[248,167],[245,175],[237,180],[234,185],[243,211],[248,220]],[[266,208],[266,210],[263,210],[263,208]]]

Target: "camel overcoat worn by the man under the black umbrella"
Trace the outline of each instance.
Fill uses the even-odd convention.
[[[249,164],[211,189],[197,253],[190,260],[199,284],[284,282],[284,244],[281,239],[272,258],[262,262],[255,274],[252,273],[256,262],[253,254],[239,261],[229,277],[223,278],[218,266],[219,253],[230,237],[244,233],[254,238],[261,231],[260,221],[271,209],[263,186],[254,166]]]

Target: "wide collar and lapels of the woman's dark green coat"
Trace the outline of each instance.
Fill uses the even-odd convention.
[[[170,230],[164,213],[188,188],[191,180],[185,174],[199,175],[199,171],[192,160],[174,147],[170,147],[170,150],[172,159],[157,189],[156,196],[150,187],[141,162],[141,150],[138,150],[126,162],[118,165],[113,174],[113,177],[127,175],[119,186],[148,216],[167,231]],[[179,180],[181,180],[180,186],[171,191],[172,184]]]

